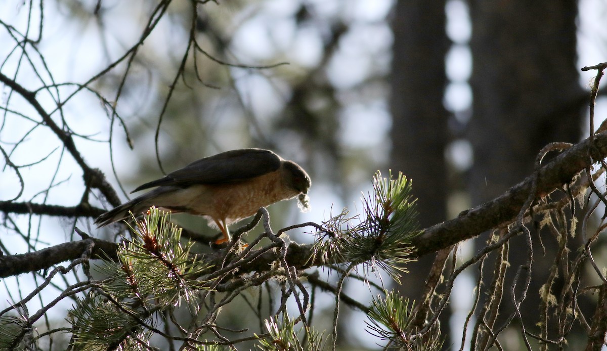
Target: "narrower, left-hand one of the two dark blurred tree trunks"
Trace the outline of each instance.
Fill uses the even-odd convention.
[[[413,180],[413,196],[422,227],[446,219],[447,170],[444,149],[448,141],[444,1],[397,1],[393,17],[392,157],[389,165]],[[402,277],[401,295],[419,301],[433,255],[409,264]],[[416,284],[411,284],[416,282]],[[443,336],[449,338],[449,316],[441,316]],[[444,345],[449,345],[447,339]]]

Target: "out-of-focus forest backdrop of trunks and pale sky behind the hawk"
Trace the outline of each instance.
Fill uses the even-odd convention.
[[[0,6],[0,72],[36,90],[61,131],[49,134],[42,128],[48,123],[29,117],[32,107],[4,86],[0,147],[7,165],[0,200],[107,208],[135,186],[194,159],[270,148],[313,179],[313,211],[300,215],[287,203],[273,206],[274,227],[320,223],[331,208],[351,206],[370,189],[376,169],[413,179],[422,228],[493,199],[531,174],[546,143],[586,135],[582,118],[591,75],[580,76],[579,68],[605,61],[605,29],[592,20],[605,13],[605,4],[592,1]],[[582,45],[589,39],[603,59]],[[76,171],[78,157],[57,135],[71,136],[91,169],[112,173],[108,179],[119,194],[89,196],[90,174]],[[2,250],[22,253],[74,239],[76,225],[101,237],[89,215],[80,214],[56,220],[5,210]],[[178,220],[206,229],[199,219]],[[544,247],[546,256],[554,256],[554,242],[546,240]],[[460,250],[464,257],[474,251]],[[404,280],[425,281],[434,261],[450,265],[448,252],[433,256],[410,266]],[[524,258],[509,257],[515,267]],[[14,295],[16,285],[35,286],[39,277],[31,279],[15,278],[5,289]],[[370,302],[364,285],[347,282],[344,288]],[[426,292],[422,284],[401,288],[410,299]],[[531,305],[540,304],[535,298],[529,294]],[[242,321],[238,314],[225,318],[233,318],[235,328]],[[348,318],[361,320],[362,313]],[[446,311],[444,330],[449,320]],[[344,347],[374,347],[350,325],[356,323],[339,330]]]

